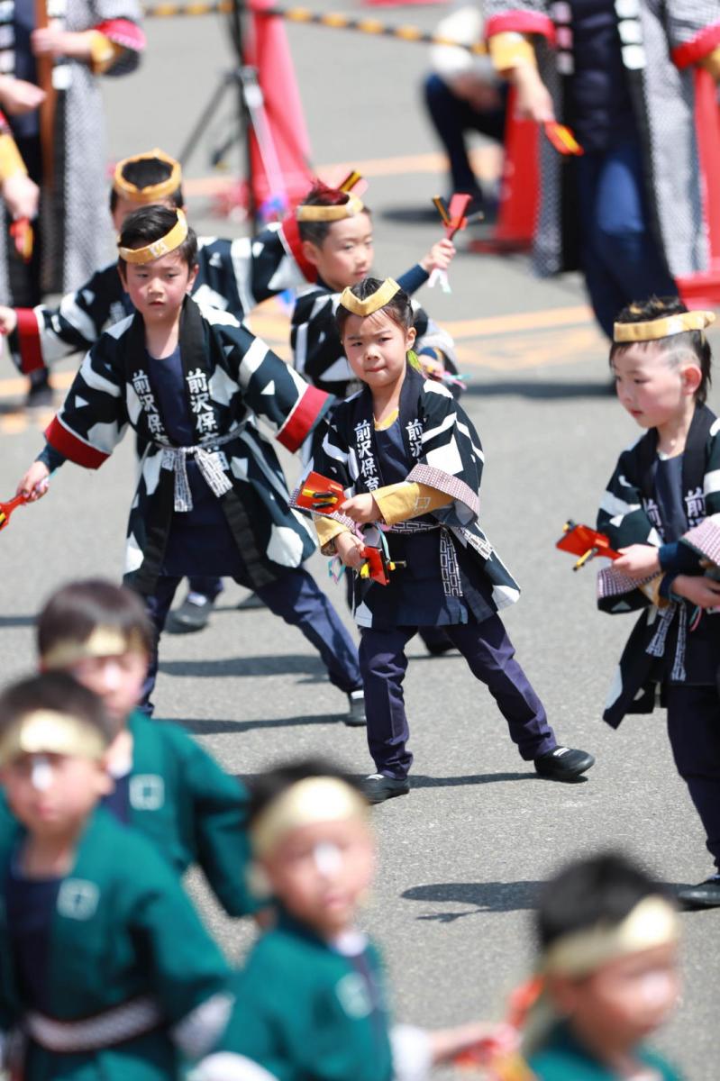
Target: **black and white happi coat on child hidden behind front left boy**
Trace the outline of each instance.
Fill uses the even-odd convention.
[[[192,295],[242,322],[257,304],[305,284],[303,267],[280,225],[270,225],[254,238],[199,237]],[[117,258],[112,259],[57,307],[16,309],[17,328],[9,338],[13,360],[26,374],[51,368],[70,353],[85,352],[103,331],[133,310]]]

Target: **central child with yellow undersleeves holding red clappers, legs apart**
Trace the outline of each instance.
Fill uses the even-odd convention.
[[[488,684],[521,757],[544,776],[577,779],[595,760],[558,746],[514,659],[497,612],[519,590],[478,524],[480,440],[450,391],[408,362],[415,331],[406,294],[389,278],[366,278],[342,294],[337,323],[363,387],[334,408],[315,441],[314,468],[349,496],[336,513],[316,518],[318,535],[323,552],[358,570],[363,544],[373,542],[355,526],[379,523],[390,560],[402,564],[387,586],[355,579],[368,743],[377,771],[364,782],[368,799],[410,790],[404,648],[428,626],[442,627]]]

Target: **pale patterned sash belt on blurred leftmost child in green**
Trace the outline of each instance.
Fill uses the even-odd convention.
[[[137,998],[82,1020],[57,1020],[31,1012],[25,1017],[25,1027],[45,1051],[68,1055],[101,1051],[134,1040],[158,1028],[162,1020],[160,1006],[154,999]]]

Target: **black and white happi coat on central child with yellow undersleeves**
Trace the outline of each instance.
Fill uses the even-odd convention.
[[[314,439],[311,468],[338,481],[348,497],[402,480],[452,496],[452,503],[431,513],[384,526],[390,558],[408,557],[411,583],[424,582],[425,587],[418,588],[421,596],[409,597],[412,585],[403,579],[403,570],[394,572],[387,586],[356,575],[358,625],[435,626],[474,617],[481,622],[514,604],[520,596],[518,585],[478,521],[484,456],[471,422],[444,386],[408,365],[396,424],[401,446],[397,454],[392,450],[390,462],[382,450],[387,432],[375,431],[372,395],[364,386],[333,406]],[[329,517],[354,526],[339,512]],[[439,544],[432,549],[412,544],[427,531],[439,534]],[[371,535],[366,542],[372,543]],[[413,566],[413,557],[424,558],[428,550],[435,552],[436,565]],[[432,579],[441,588],[434,590]],[[440,612],[430,606],[432,593],[445,599]]]

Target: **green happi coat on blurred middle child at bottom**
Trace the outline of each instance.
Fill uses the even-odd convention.
[[[257,1066],[279,1081],[390,1081],[383,967],[356,938],[341,952],[283,912],[235,977],[227,1029],[192,1081],[258,1081]]]

